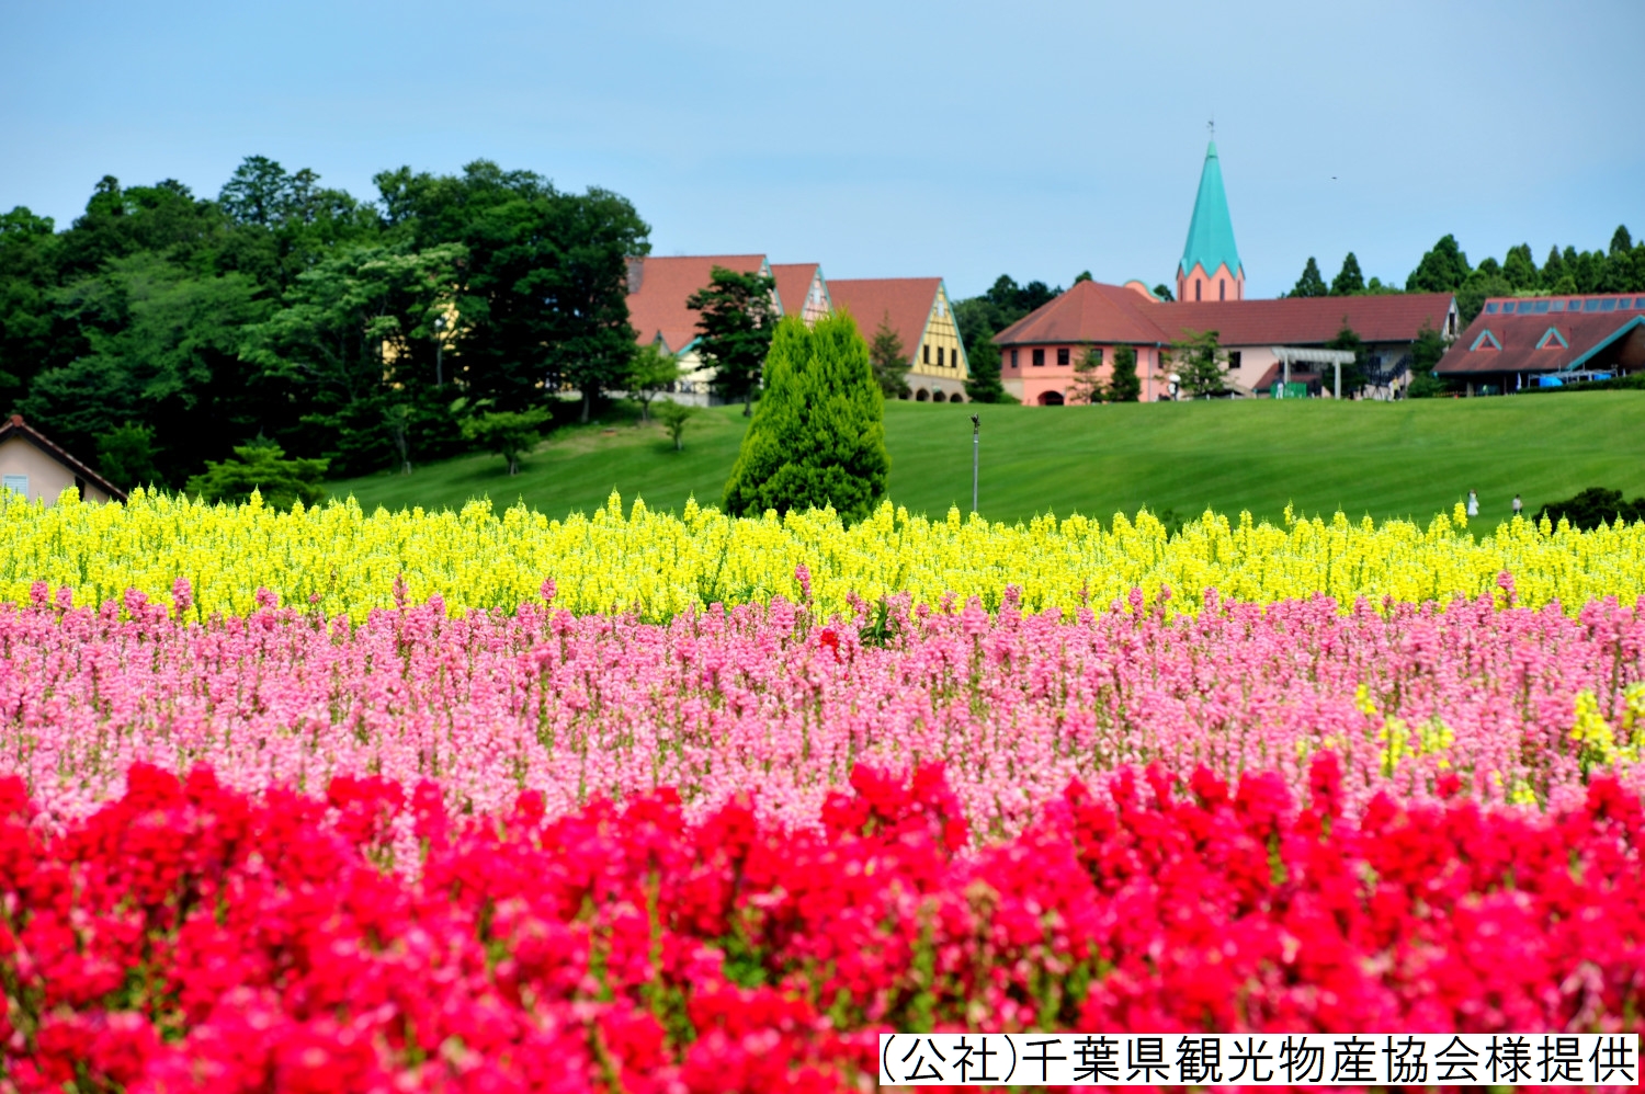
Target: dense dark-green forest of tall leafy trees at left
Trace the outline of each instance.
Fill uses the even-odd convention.
[[[0,214],[0,396],[117,485],[181,487],[248,443],[433,459],[466,418],[620,383],[650,247],[627,199],[489,161],[375,184],[252,156],[215,199],[104,178],[66,230]]]

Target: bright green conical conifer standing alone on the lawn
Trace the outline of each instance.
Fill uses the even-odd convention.
[[[847,522],[865,518],[892,466],[883,406],[869,344],[849,314],[811,329],[785,318],[767,360],[765,398],[725,484],[725,512],[832,505]]]

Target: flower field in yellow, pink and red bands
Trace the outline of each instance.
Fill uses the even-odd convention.
[[[1640,1028],[1645,525],[0,520],[0,1094]]]

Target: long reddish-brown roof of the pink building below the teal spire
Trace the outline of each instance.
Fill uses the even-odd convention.
[[[1318,345],[1354,327],[1367,342],[1408,342],[1426,322],[1444,329],[1449,293],[1161,303],[1137,290],[1081,281],[1000,331],[1000,345],[1176,342],[1216,331],[1222,345]]]

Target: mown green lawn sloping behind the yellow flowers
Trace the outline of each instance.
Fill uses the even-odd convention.
[[[1298,512],[1416,517],[1449,510],[1469,489],[1482,517],[1527,512],[1606,485],[1645,495],[1645,392],[1589,392],[1405,403],[1211,401],[1119,406],[890,403],[890,497],[941,515],[971,502],[971,420],[982,415],[982,513],[1022,520],[1053,510],[1104,520],[1115,512],[1206,507],[1278,518]],[[411,475],[332,484],[367,508],[461,507],[489,495],[561,517],[591,512],[615,489],[655,510],[696,495],[717,505],[744,431],[740,406],[697,415],[686,449],[619,406],[604,424],[556,431],[518,475],[495,456],[464,456]]]

